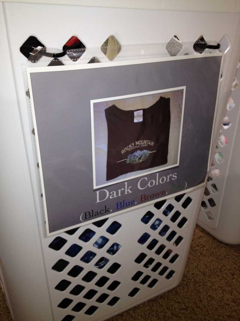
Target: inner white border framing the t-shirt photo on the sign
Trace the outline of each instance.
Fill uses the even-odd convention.
[[[93,104],[96,102],[103,102],[103,101],[109,101],[109,100],[118,100],[118,99],[126,99],[126,98],[133,98],[133,97],[141,97],[141,96],[148,96],[148,95],[153,95],[153,94],[158,94],[161,92],[169,92],[169,91],[177,91],[183,89],[183,98],[182,98],[182,112],[181,112],[181,123],[180,123],[180,136],[179,136],[179,144],[178,144],[178,158],[177,158],[177,163],[173,165],[169,165],[160,169],[155,169],[151,170],[149,168],[148,172],[139,174],[139,175],[133,175],[131,177],[123,178],[116,180],[114,182],[109,182],[106,184],[102,184],[97,186],[96,185],[96,162],[95,162],[95,135],[94,135],[94,110],[93,110]],[[179,159],[180,159],[180,149],[181,149],[181,140],[182,140],[182,125],[183,125],[183,117],[184,117],[184,104],[185,104],[185,92],[186,92],[186,86],[181,86],[181,87],[175,87],[175,88],[167,88],[167,89],[161,89],[161,90],[155,90],[155,91],[147,91],[147,92],[141,92],[141,93],[136,93],[136,94],[131,94],[131,95],[122,95],[122,96],[116,96],[116,97],[109,97],[109,98],[103,98],[103,99],[93,99],[90,100],[90,107],[91,107],[91,130],[92,130],[92,177],[93,177],[93,189],[97,189],[100,187],[104,186],[110,186],[113,184],[125,182],[129,179],[145,176],[148,174],[160,172],[165,169],[169,169],[172,167],[179,166]],[[171,103],[171,102],[170,102]]]

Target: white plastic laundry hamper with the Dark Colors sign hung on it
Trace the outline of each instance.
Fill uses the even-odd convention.
[[[32,34],[45,39],[48,48],[61,48],[77,29],[83,42],[89,40],[89,47],[93,48],[115,33],[121,44],[131,44],[123,46],[125,54],[117,59],[130,60],[167,55],[165,47],[176,33],[185,39],[183,47],[189,53],[203,34],[206,39],[220,42],[221,51],[225,52],[216,118],[219,128],[222,119],[219,114],[228,99],[240,49],[236,41],[240,14],[190,12],[187,5],[184,10],[1,4],[4,58],[0,70],[5,80],[1,87],[4,102],[1,128],[5,140],[1,168],[4,187],[1,189],[0,276],[14,320],[105,320],[169,291],[181,281],[204,187],[190,193],[181,191],[129,212],[44,236],[38,169],[26,108],[27,84],[23,83],[22,74],[26,59],[19,48]],[[26,19],[22,19],[20,12]],[[77,19],[80,14],[81,21]],[[43,22],[46,15],[48,19]],[[203,19],[206,19],[204,24]],[[121,23],[116,26],[113,21]],[[166,22],[168,28],[163,33],[161,29],[166,28]],[[41,63],[46,65],[44,59]],[[237,110],[236,107],[229,112]],[[234,128],[235,119],[231,119],[228,130]],[[218,133],[213,134],[216,141]],[[104,268],[97,267],[101,265]]]

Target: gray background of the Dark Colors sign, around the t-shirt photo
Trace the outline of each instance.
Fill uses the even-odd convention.
[[[117,202],[134,200],[138,205],[142,194],[164,190],[169,195],[182,191],[186,183],[190,188],[204,182],[221,58],[30,74],[50,233],[80,225],[84,212],[100,212],[106,206],[114,213],[123,209],[116,210]],[[96,203],[90,100],[180,86],[186,86],[180,163],[159,172],[159,178],[177,173],[177,179],[139,190],[142,177],[133,178],[127,181],[133,193]],[[156,173],[146,177],[156,179]],[[124,186],[121,182],[104,189],[110,193]],[[87,220],[105,215],[108,213]]]

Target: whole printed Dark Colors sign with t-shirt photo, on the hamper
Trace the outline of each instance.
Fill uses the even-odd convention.
[[[203,185],[221,61],[27,68],[47,235]]]

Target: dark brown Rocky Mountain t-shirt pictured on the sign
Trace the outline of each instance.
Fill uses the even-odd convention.
[[[134,112],[136,116],[139,110],[122,110],[115,105],[105,109],[108,126],[107,181],[167,163],[170,98],[160,97],[155,104],[142,109],[142,121],[134,122]]]

